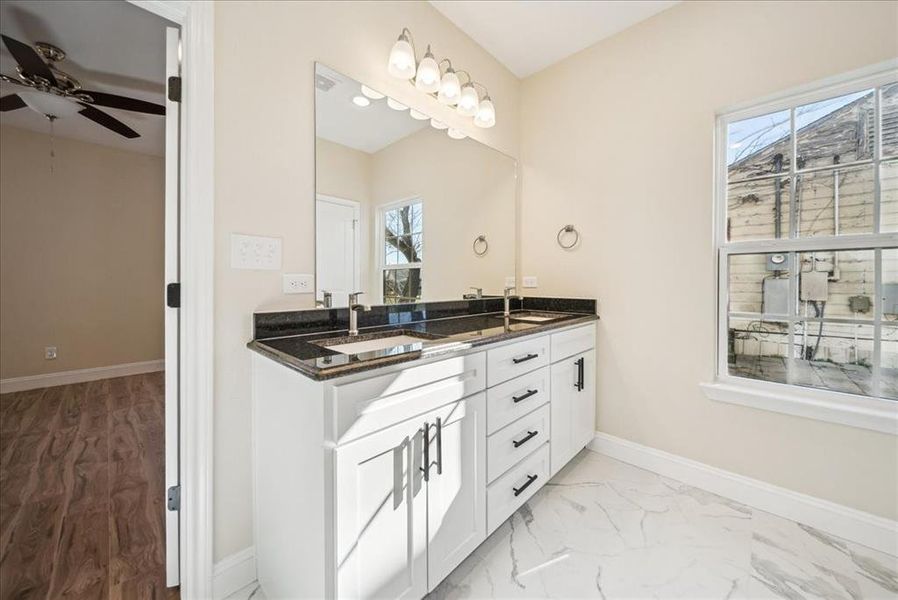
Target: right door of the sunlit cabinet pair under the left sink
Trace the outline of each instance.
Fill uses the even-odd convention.
[[[427,580],[431,590],[486,539],[485,407],[486,395],[480,393],[425,417],[433,424],[440,419],[440,431],[431,427],[429,436]]]

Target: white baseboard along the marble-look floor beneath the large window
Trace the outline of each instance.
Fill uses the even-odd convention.
[[[898,556],[898,522],[596,432],[589,449]]]

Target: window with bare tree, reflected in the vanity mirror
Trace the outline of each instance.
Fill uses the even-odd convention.
[[[424,205],[420,199],[381,207],[380,270],[384,304],[421,300]]]

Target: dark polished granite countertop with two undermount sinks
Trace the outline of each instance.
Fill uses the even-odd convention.
[[[521,312],[530,311],[513,311],[512,317],[515,313],[520,314]],[[249,342],[247,347],[316,381],[324,381],[387,365],[412,362],[563,327],[590,323],[598,319],[594,312],[553,313],[553,316],[557,315],[560,315],[559,318],[552,321],[532,323],[514,319],[506,321],[501,312],[481,313],[366,327],[360,329],[358,336],[350,339],[335,339],[345,338],[348,331],[331,329],[302,335],[255,339]],[[323,340],[334,344],[376,339],[382,337],[377,334],[383,332],[391,332],[395,335],[410,333],[427,339],[407,346],[361,354],[341,354],[320,345]]]

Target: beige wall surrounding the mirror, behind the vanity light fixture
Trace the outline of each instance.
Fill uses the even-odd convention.
[[[402,27],[486,84],[497,125],[476,130],[386,61]],[[314,272],[315,61],[511,155],[518,80],[424,2],[218,2],[215,6],[215,559],[252,544],[250,362],[253,311],[306,308],[278,271],[232,270],[232,232],[283,238],[283,271]],[[276,82],[263,86],[253,82]]]

